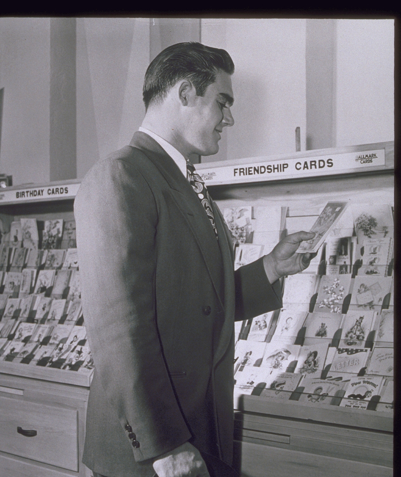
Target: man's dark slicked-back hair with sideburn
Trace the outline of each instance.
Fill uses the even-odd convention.
[[[143,102],[147,109],[155,100],[163,99],[180,79],[188,79],[196,95],[216,81],[217,73],[234,73],[234,63],[226,50],[197,42],[176,43],[159,53],[148,66],[143,83]]]

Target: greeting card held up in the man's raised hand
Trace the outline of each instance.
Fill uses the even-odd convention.
[[[330,230],[334,227],[336,221],[344,213],[347,205],[348,202],[327,202],[319,217],[316,219],[316,222],[310,229],[311,232],[315,232],[315,236],[311,240],[301,242],[297,253],[304,254],[306,252],[317,252],[327,235],[330,233]]]

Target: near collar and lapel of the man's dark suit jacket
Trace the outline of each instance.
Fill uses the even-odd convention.
[[[216,257],[220,255],[220,249],[210,220],[197,195],[173,159],[150,136],[137,132],[134,134],[130,146],[142,150],[168,182],[171,188],[169,192],[195,237],[213,286],[224,308],[224,300],[218,286],[221,282],[221,263],[220,260],[216,260]],[[225,237],[223,230],[222,237]]]

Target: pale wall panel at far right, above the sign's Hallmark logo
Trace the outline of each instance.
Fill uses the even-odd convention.
[[[394,21],[337,20],[336,146],[394,140]]]

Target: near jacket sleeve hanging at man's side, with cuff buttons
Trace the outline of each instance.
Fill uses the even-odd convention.
[[[96,373],[122,428],[136,435],[135,460],[154,458],[191,437],[156,328],[156,202],[134,165],[114,159],[87,175],[74,211]]]

